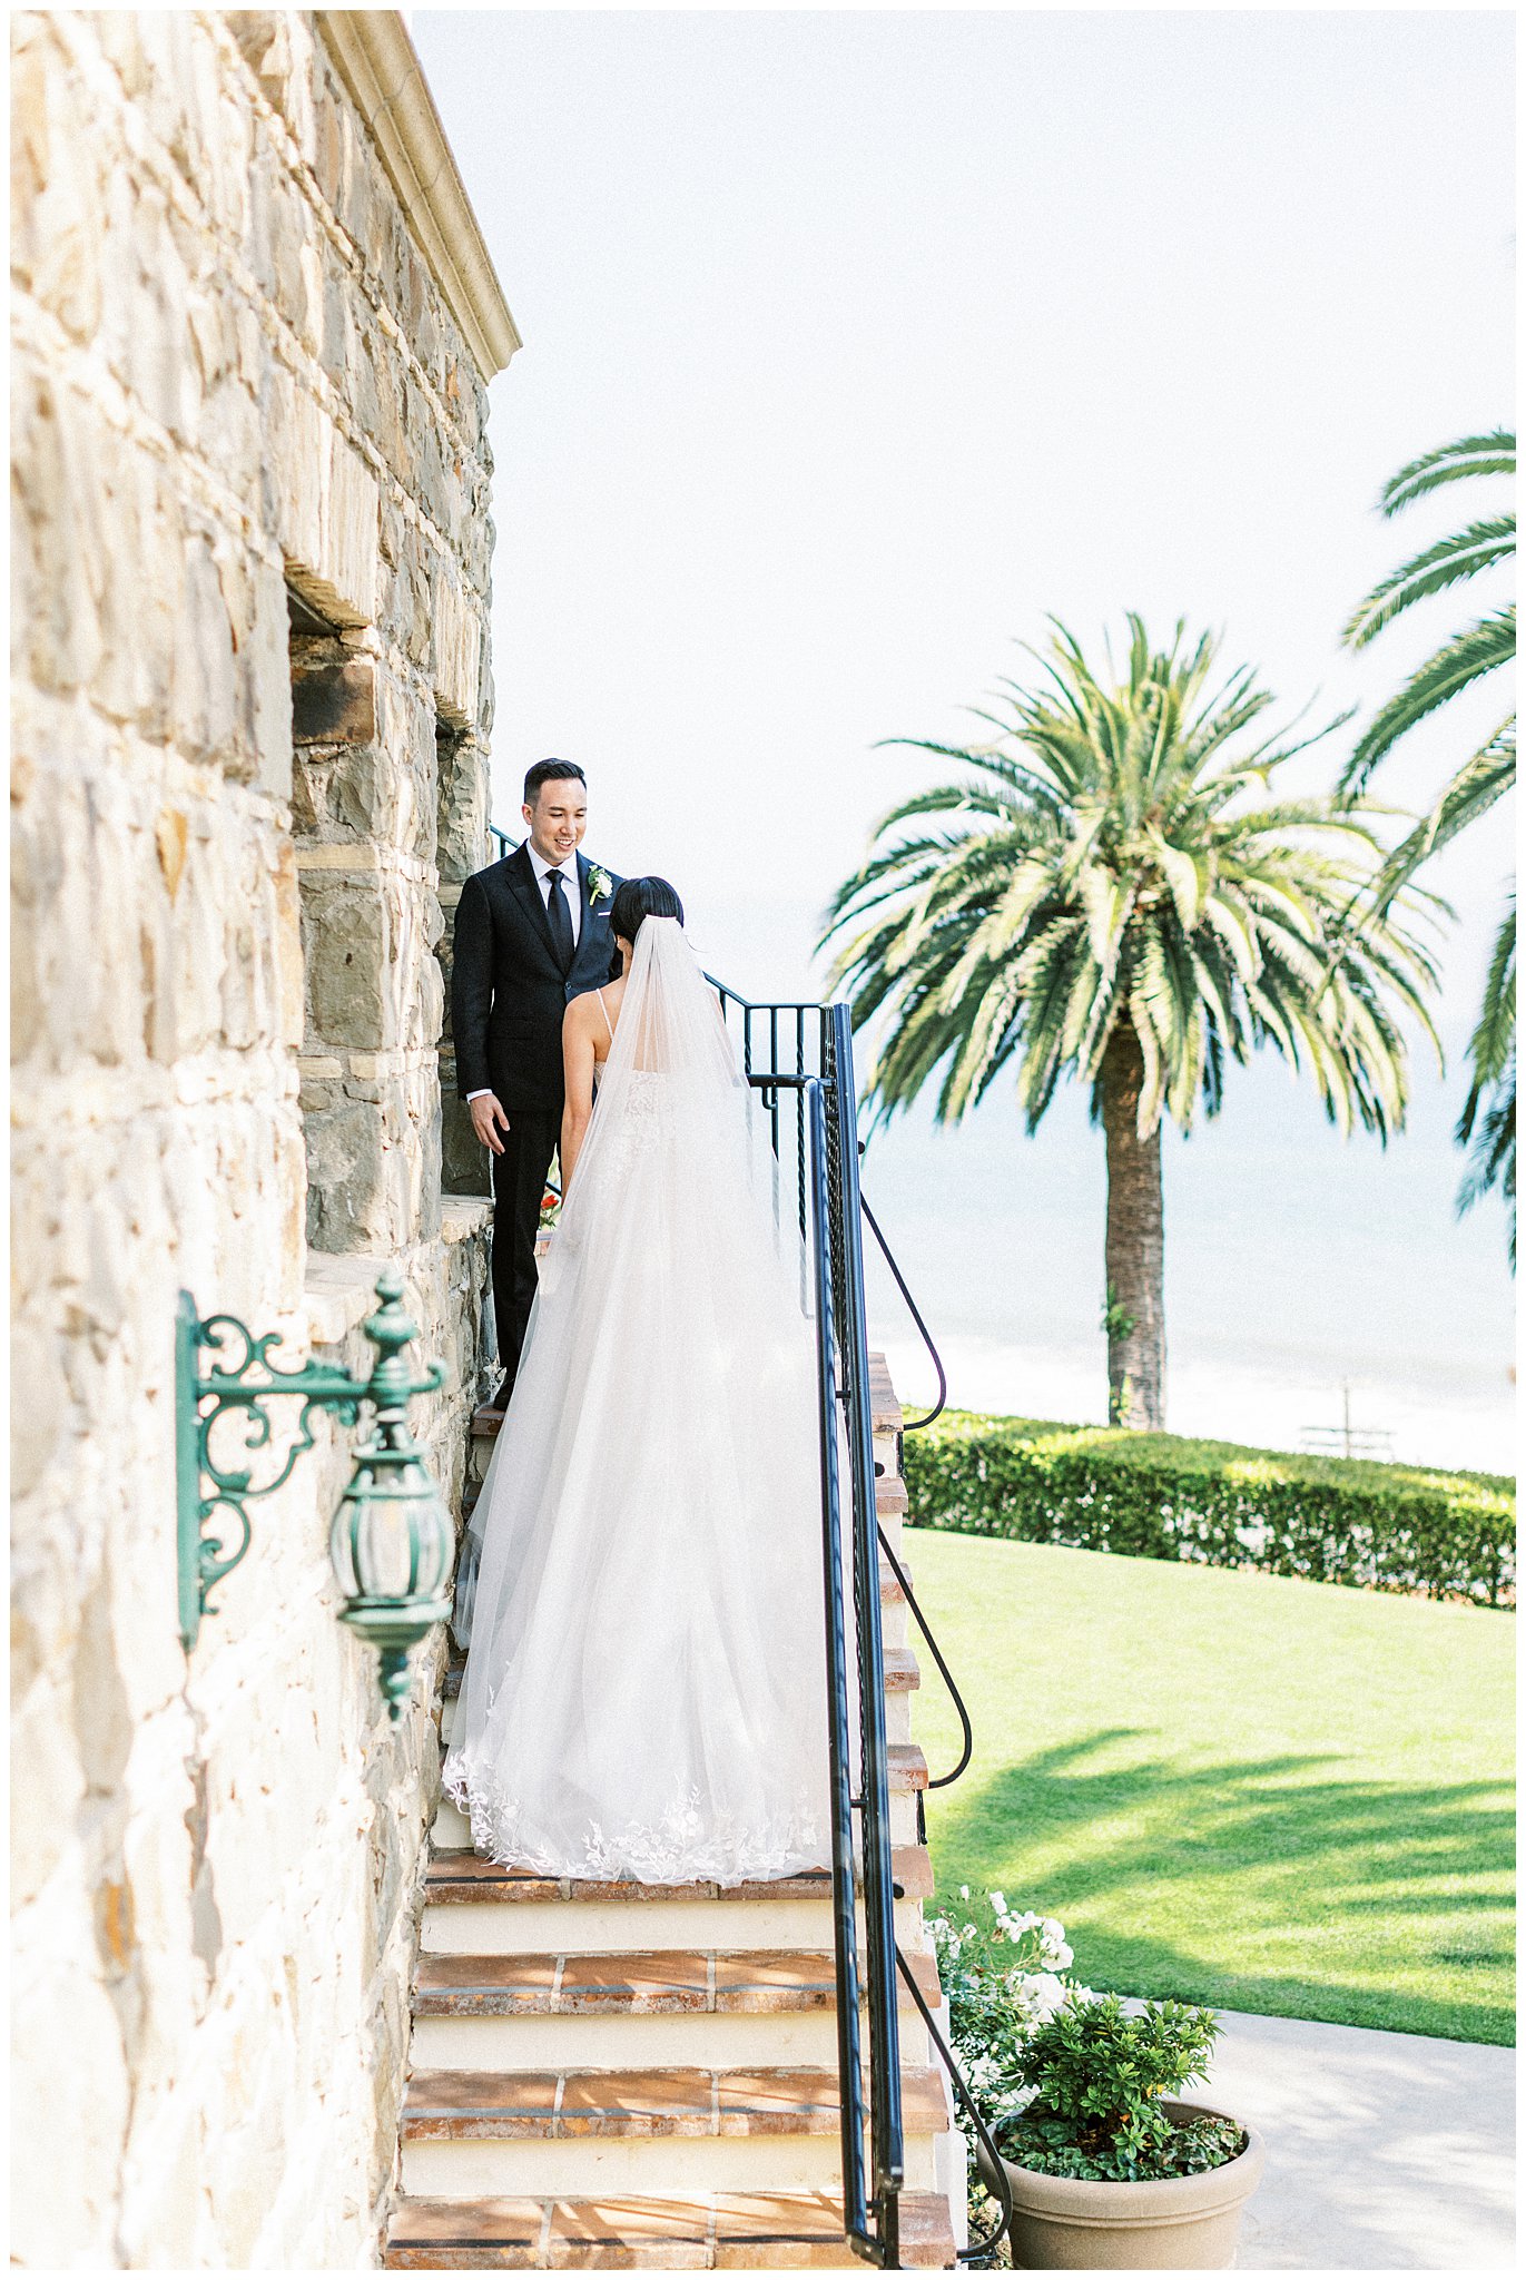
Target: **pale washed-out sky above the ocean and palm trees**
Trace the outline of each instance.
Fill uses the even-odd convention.
[[[1359,661],[1339,650],[1401,552],[1499,499],[1373,513],[1405,458],[1510,417],[1508,11],[415,9],[411,27],[525,335],[493,385],[500,821],[531,759],[579,759],[589,850],[666,873],[753,994],[803,980],[869,823],[926,780],[876,739],[974,734],[960,709],[1045,611],[1097,648],[1127,606],[1223,627],[1225,661],[1257,661],[1291,714],[1316,691],[1375,705],[1483,606],[1453,595]],[[1382,789],[1423,798],[1503,709],[1458,705]],[[1462,907],[1453,1047],[1508,839],[1501,819],[1437,871]],[[1312,1092],[1275,1083],[1334,1192],[1355,1165],[1328,1156]],[[1394,1174],[1389,1151],[1373,1188],[1373,1304],[1403,1313],[1423,1259],[1503,1373],[1496,1218],[1451,1222],[1455,1101],[1451,1083],[1417,1110],[1412,1161]],[[1083,1316],[1090,1336],[1099,1142],[1083,1115],[1036,1142],[999,1117],[1033,1215],[1065,1218],[1047,1181],[1086,1186],[1097,1256],[1077,1261],[1072,1332]],[[1184,1161],[1216,1151],[1229,1176],[1245,1147],[1255,1179],[1255,1140],[1225,1115]],[[976,1161],[960,1145],[928,1142],[951,1167]],[[1373,1186],[1371,1142],[1362,1163]],[[1188,1352],[1204,1229],[1175,1165],[1168,1213]],[[1307,1213],[1284,1240],[1321,1247]],[[1286,1302],[1264,1304],[1286,1336]],[[992,1336],[1029,1332],[1013,1316]]]

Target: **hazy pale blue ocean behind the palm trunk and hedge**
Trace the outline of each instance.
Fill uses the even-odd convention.
[[[750,996],[819,994],[814,910],[703,891],[707,967]],[[860,1067],[862,1078],[862,1067]],[[1163,1142],[1168,1425],[1300,1448],[1307,1427],[1382,1434],[1407,1464],[1512,1471],[1515,1284],[1499,1199],[1458,1220],[1460,1081],[1419,1058],[1387,1149],[1325,1122],[1275,1053],[1232,1069],[1225,1108]],[[1026,1138],[1008,1078],[963,1126],[917,1108],[869,1135],[865,1192],[956,1407],[1102,1423],[1104,1154],[1079,1088]],[[935,1375],[890,1275],[869,1318],[903,1400]]]

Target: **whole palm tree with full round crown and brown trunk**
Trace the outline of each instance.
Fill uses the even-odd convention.
[[[1211,691],[1216,643],[1193,648],[1177,625],[1170,650],[1152,650],[1136,616],[1115,686],[1058,622],[1047,657],[1031,654],[1036,686],[1004,682],[1004,711],[981,714],[992,743],[896,739],[969,773],[885,816],[821,946],[837,942],[855,1026],[885,1012],[878,1119],[940,1069],[942,1124],[1013,1060],[1029,1133],[1061,1076],[1090,1085],[1106,1135],[1109,1416],[1159,1430],[1161,1115],[1188,1131],[1198,1104],[1218,1110],[1227,1060],[1275,1044],[1309,1067],[1334,1124],[1387,1140],[1407,1097],[1396,1015],[1435,1042],[1435,967],[1391,917],[1344,923],[1382,850],[1348,807],[1271,798],[1275,771],[1318,736],[1245,741],[1271,705],[1250,666]]]

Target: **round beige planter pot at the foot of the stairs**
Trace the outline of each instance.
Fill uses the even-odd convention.
[[[1218,2107],[1168,2098],[1166,2111],[1186,2123]],[[1234,2264],[1241,2209],[1266,2164],[1261,2136],[1245,2123],[1236,2127],[1248,2143],[1234,2161],[1152,2184],[1045,2177],[1004,2161],[1013,2189],[1013,2264],[1020,2271],[1225,2271]],[[983,2152],[981,2171],[990,2184]]]

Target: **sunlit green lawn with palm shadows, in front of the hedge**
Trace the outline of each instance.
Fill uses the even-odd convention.
[[[1058,1915],[1095,1988],[1515,2041],[1512,1614],[924,1528],[906,1553],[976,1735],[928,1797],[942,1897]],[[919,1660],[940,1774],[958,1721]]]

